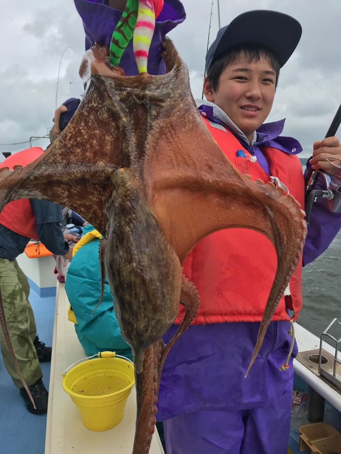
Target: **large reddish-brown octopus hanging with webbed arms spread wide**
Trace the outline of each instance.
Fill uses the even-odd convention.
[[[102,276],[106,272],[134,355],[133,454],[149,452],[163,363],[199,306],[182,276],[188,252],[229,227],[257,230],[274,244],[278,267],[252,364],[306,235],[304,212],[292,196],[252,182],[228,161],[197,111],[185,64],[169,39],[163,45],[163,76],[124,76],[109,66],[106,47],[87,51],[85,95],[67,128],[36,161],[0,173],[0,209],[22,197],[51,200],[78,212],[105,238]],[[164,345],[161,336],[179,300],[186,315]]]

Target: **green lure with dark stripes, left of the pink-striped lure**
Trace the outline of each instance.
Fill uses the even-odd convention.
[[[136,26],[138,0],[128,0],[121,19],[117,24],[110,42],[109,62],[112,66],[118,66],[123,52],[132,38]]]

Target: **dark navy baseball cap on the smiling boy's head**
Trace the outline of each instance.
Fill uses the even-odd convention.
[[[288,14],[265,9],[247,11],[218,31],[206,54],[206,72],[220,55],[244,43],[269,47],[282,68],[296,49],[301,34],[300,23]]]

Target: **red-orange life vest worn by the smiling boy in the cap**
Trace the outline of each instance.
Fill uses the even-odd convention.
[[[243,174],[256,180],[270,180],[269,175],[228,130],[211,126],[204,119],[214,139],[228,159]],[[246,157],[237,156],[243,150]],[[278,177],[290,193],[304,206],[304,182],[301,164],[296,155],[262,147],[270,175]],[[208,213],[208,216],[210,214]],[[274,246],[262,234],[243,228],[229,228],[203,238],[183,262],[186,277],[196,286],[200,307],[193,324],[260,321],[277,268]],[[272,320],[289,320],[286,307],[294,310],[294,318],[302,307],[302,261],[290,280],[290,294],[282,297]],[[184,308],[180,304],[174,323],[180,323]]]

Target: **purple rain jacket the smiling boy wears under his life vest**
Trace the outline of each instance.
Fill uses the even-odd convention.
[[[302,148],[297,140],[280,137],[284,120],[265,123],[255,132],[250,145],[242,131],[213,103],[200,101],[199,111],[206,118],[228,127],[239,136],[243,145],[268,171],[267,162],[260,150],[270,146],[287,153],[297,154]],[[305,264],[314,260],[331,243],[341,227],[341,214],[330,213],[319,203],[314,207],[303,255]],[[313,235],[317,234],[317,237]],[[247,281],[247,274],[246,274]],[[177,325],[165,334],[171,339]],[[243,411],[269,406],[269,396],[283,396],[292,392],[292,360],[298,353],[295,347],[288,371],[278,374],[289,352],[289,322],[271,322],[262,348],[248,378],[244,378],[257,338],[259,323],[215,323],[191,325],[175,342],[168,354],[161,375],[158,401],[158,420],[176,415],[207,410]],[[290,396],[289,396],[290,397]],[[291,397],[286,396],[286,411],[282,418],[290,419]],[[273,400],[273,399],[272,399]],[[285,402],[281,403],[284,410]],[[278,408],[273,409],[274,430],[278,424]],[[228,422],[227,422],[228,423]]]

